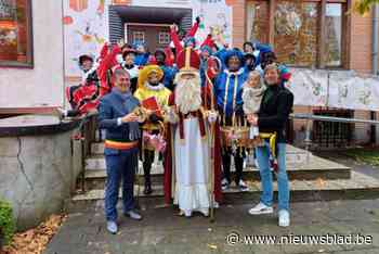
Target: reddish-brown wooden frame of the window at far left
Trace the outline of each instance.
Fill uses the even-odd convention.
[[[18,61],[3,61],[0,60],[0,68],[34,68],[34,33],[32,33],[32,1],[26,0],[26,29],[27,29],[27,50],[26,58],[29,60],[27,63]]]

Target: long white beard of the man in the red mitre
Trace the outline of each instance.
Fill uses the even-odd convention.
[[[198,111],[201,106],[200,77],[193,79],[177,79],[175,105],[183,114]]]

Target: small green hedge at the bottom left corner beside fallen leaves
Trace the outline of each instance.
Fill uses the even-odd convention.
[[[3,238],[3,245],[8,245],[15,231],[13,211],[10,203],[0,200],[0,238]]]

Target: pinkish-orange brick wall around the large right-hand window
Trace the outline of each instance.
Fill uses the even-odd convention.
[[[270,12],[275,12],[275,4],[280,1],[278,0],[267,0],[267,1],[253,1],[253,0],[236,0],[234,1],[233,5],[233,36],[234,41],[237,43],[237,46],[241,46],[244,42],[244,38],[247,37],[247,22],[248,22],[248,4],[251,3],[266,3],[265,7],[261,7],[263,9],[263,12],[266,12],[267,14],[261,14],[260,17],[269,18],[272,22],[269,22],[269,25],[265,24],[266,28],[274,29],[274,20],[270,18]],[[283,1],[282,1],[283,2]],[[295,1],[293,1],[295,2]],[[354,4],[355,1],[297,1],[297,2],[313,2],[317,3],[318,8],[322,9],[323,4],[327,3],[341,3],[343,5],[343,10],[350,10],[351,7]],[[270,5],[272,5],[273,10],[270,10]],[[275,15],[275,14],[271,14]],[[357,13],[352,12],[351,14],[345,14],[344,17],[344,24],[342,25],[344,31],[342,33],[342,43],[344,43],[343,52],[342,52],[342,59],[344,61],[342,68],[343,69],[354,69],[361,74],[370,74],[373,73],[373,14],[367,13],[366,15],[362,16]],[[378,30],[379,33],[379,30]],[[274,46],[275,49],[275,38],[273,35],[269,35],[263,37],[263,39],[266,39],[264,42],[271,42],[271,45]],[[277,53],[279,52],[279,49],[275,49]],[[296,113],[312,113],[314,109],[311,109],[309,106],[296,106],[295,112]],[[377,118],[378,118],[378,113]],[[370,112],[368,111],[355,111],[354,117],[356,118],[364,118],[369,119],[370,118]],[[297,132],[301,134],[301,130],[305,128],[305,122],[304,120],[297,120],[293,126],[295,130],[298,130]],[[368,142],[370,139],[370,127],[367,125],[356,124],[355,125],[355,131],[354,131],[354,139],[358,143],[365,143]],[[304,134],[301,136],[301,138],[304,137]],[[299,137],[300,138],[300,137]]]

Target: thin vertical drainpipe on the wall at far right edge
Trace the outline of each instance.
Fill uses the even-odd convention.
[[[378,75],[378,63],[379,63],[379,55],[378,55],[378,50],[379,50],[379,4],[374,4],[373,7],[373,74]],[[371,119],[376,119],[376,112],[371,111],[370,112]],[[373,144],[376,144],[376,139],[377,139],[377,132],[376,132],[376,126],[371,126],[371,137],[370,141]]]

